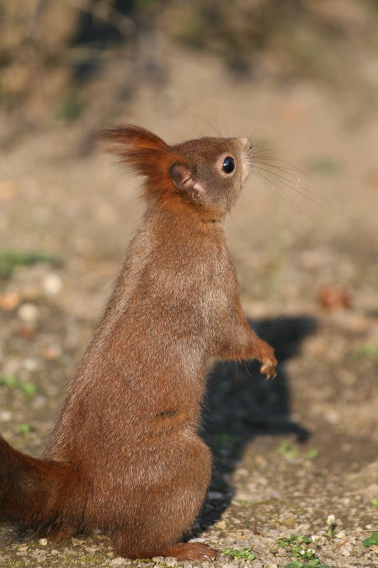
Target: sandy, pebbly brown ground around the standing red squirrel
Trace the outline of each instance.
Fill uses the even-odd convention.
[[[203,565],[373,568],[378,542],[362,541],[378,530],[377,61],[364,62],[367,97],[358,86],[236,82],[218,60],[171,57],[169,87],[140,87],[109,124],[168,142],[252,135],[284,160],[268,168],[278,178],[250,175],[226,221],[245,312],[280,364],[269,382],[254,364],[212,373],[203,430],[215,468],[194,537],[223,552]],[[106,85],[91,89],[106,104]],[[143,207],[138,180],[88,142],[103,126],[96,104],[70,126],[17,137],[0,116],[0,251],[53,257],[0,279],[0,430],[34,456]],[[303,545],[313,564],[312,552],[301,564],[293,543],[279,545],[293,534],[317,537]],[[224,552],[244,547],[255,559]],[[52,545],[0,529],[0,567],[154,564],[176,561],[117,559],[101,534]]]

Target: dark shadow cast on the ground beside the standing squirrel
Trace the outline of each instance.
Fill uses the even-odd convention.
[[[199,532],[216,523],[234,490],[226,476],[236,468],[247,444],[258,435],[294,434],[306,442],[310,432],[291,420],[288,359],[300,351],[303,339],[315,332],[313,317],[277,317],[251,322],[250,327],[275,349],[279,361],[277,376],[267,381],[257,361],[218,364],[209,377],[201,436],[214,457],[211,491],[223,497],[207,499],[199,515]]]

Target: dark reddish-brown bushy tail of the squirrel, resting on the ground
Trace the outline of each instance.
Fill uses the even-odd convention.
[[[72,511],[77,481],[72,464],[27,456],[0,436],[0,521],[60,540],[71,518],[78,520]]]

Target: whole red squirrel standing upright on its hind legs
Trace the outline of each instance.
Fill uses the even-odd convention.
[[[0,437],[0,521],[56,542],[94,528],[116,554],[201,562],[217,552],[182,542],[211,479],[199,437],[206,375],[216,359],[258,359],[222,219],[250,168],[248,138],[168,146],[138,126],[97,138],[145,177],[143,222],[93,339],[65,393],[41,459]]]

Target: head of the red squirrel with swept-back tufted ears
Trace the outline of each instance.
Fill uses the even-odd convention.
[[[139,126],[116,126],[96,138],[111,141],[121,162],[144,175],[145,197],[177,214],[223,219],[250,170],[248,138],[198,138],[174,146]]]

